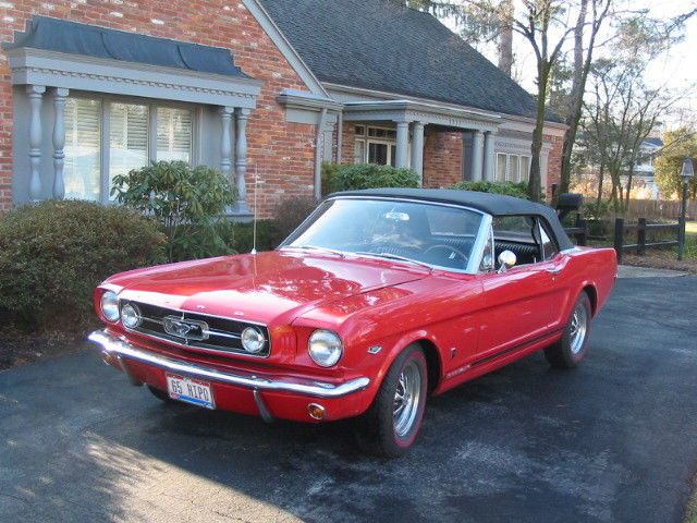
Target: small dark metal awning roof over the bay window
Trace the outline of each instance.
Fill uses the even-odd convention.
[[[233,63],[229,49],[156,38],[48,16],[34,16],[5,49],[33,48],[123,60],[203,73],[248,77]]]

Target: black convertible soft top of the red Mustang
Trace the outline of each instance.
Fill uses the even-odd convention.
[[[542,204],[535,204],[527,199],[503,196],[501,194],[476,193],[473,191],[457,191],[452,188],[366,188],[363,191],[344,191],[331,194],[329,197],[363,196],[381,198],[407,198],[441,204],[462,205],[487,212],[491,216],[540,216],[552,228],[559,248],[564,251],[574,246],[559,221],[557,211]]]

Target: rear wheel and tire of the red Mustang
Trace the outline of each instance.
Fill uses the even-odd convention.
[[[591,317],[590,299],[588,294],[582,292],[561,340],[545,349],[545,357],[552,367],[574,368],[586,357]]]

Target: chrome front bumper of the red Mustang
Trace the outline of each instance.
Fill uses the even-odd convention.
[[[89,341],[96,343],[105,356],[117,360],[133,360],[155,367],[163,368],[172,373],[181,373],[186,376],[208,379],[221,384],[234,385],[256,391],[279,391],[291,392],[313,398],[341,398],[353,392],[364,390],[370,380],[366,377],[354,378],[340,385],[328,381],[316,381],[310,379],[272,379],[249,374],[230,373],[219,370],[213,367],[193,364],[163,356],[155,352],[138,349],[127,341],[109,333],[106,330],[96,330],[87,337]],[[126,370],[124,368],[124,370]]]

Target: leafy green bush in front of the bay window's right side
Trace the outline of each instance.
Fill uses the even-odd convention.
[[[171,262],[225,252],[216,223],[236,192],[216,169],[185,161],[158,161],[114,177],[111,194],[120,204],[152,216],[168,238]]]

